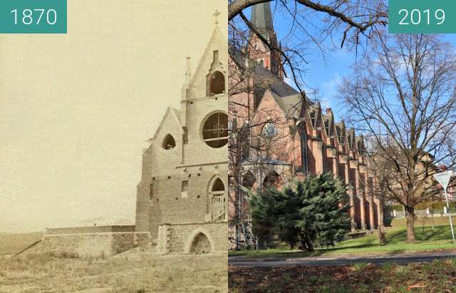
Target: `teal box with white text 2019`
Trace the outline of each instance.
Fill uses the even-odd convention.
[[[455,0],[388,0],[388,33],[455,34]]]

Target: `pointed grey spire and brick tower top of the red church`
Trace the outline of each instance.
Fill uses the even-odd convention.
[[[271,48],[281,47],[277,41],[276,32],[274,31],[271,4],[269,2],[252,6],[250,22],[255,26],[259,34],[268,41]],[[252,32],[249,43],[252,44],[248,48],[250,58],[257,60],[259,63],[263,64],[264,68],[283,79],[284,75],[279,51],[268,48],[254,32]]]

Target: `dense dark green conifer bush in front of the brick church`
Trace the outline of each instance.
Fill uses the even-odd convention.
[[[260,240],[279,235],[291,248],[314,251],[334,246],[349,231],[346,187],[331,173],[308,175],[281,190],[267,187],[251,194],[252,230]]]

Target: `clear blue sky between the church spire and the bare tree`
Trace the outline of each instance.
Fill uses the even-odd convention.
[[[308,62],[307,64],[303,64],[307,71],[304,76],[306,84],[309,88],[318,88],[318,98],[323,108],[332,108],[336,114],[336,119],[341,119],[343,116],[343,107],[336,98],[337,88],[342,78],[351,73],[351,65],[356,61],[356,53],[348,50],[346,46],[341,48],[342,34],[334,34],[332,40],[326,39],[323,42],[323,45],[328,49],[324,55],[326,62],[323,61],[323,55],[318,50],[318,46],[312,41],[309,41],[308,36],[300,30],[294,30],[290,33],[292,24],[289,12],[276,9],[275,1],[271,2],[271,10],[274,18],[274,29],[279,41],[284,41],[289,46],[303,42],[309,45],[304,48],[305,58]],[[309,11],[309,9],[305,11]],[[250,11],[247,11],[246,15],[249,14]],[[316,34],[317,30],[315,27],[321,24],[320,17],[323,16],[326,16],[326,14],[321,12],[306,14],[306,22],[301,22],[301,24],[309,34]],[[318,36],[318,34],[316,35]],[[456,46],[455,34],[447,34],[445,38],[453,46]]]

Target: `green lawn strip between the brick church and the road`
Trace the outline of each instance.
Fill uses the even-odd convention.
[[[447,218],[445,218],[447,220]],[[442,219],[439,219],[441,221]],[[316,252],[301,252],[299,250],[289,250],[284,247],[274,250],[250,250],[240,252],[229,252],[233,255],[246,255],[249,257],[304,257],[318,255],[346,255],[346,254],[373,254],[373,253],[400,253],[400,252],[420,252],[438,250],[456,250],[451,240],[450,225],[437,225],[432,229],[430,225],[425,225],[424,230],[421,225],[415,223],[415,238],[417,242],[405,242],[407,230],[401,222],[393,222],[396,227],[386,230],[387,245],[381,246],[378,242],[378,235],[372,234],[356,239],[340,242],[333,249],[320,249]]]

